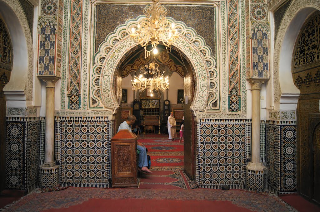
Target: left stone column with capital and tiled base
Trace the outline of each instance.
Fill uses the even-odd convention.
[[[59,184],[59,166],[54,160],[54,89],[59,77],[43,76],[39,78],[45,82],[46,87],[44,164],[40,165],[39,186],[53,187]]]

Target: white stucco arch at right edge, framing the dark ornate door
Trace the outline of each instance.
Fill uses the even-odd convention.
[[[318,0],[292,1],[278,30],[273,56],[274,102],[293,103],[293,108],[286,109],[295,110],[294,105],[300,93],[291,80],[294,45],[303,23],[313,11],[320,10],[319,6]]]

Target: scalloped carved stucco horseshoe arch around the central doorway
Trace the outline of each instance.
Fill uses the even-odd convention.
[[[114,114],[119,108],[114,92],[115,74],[124,55],[139,45],[130,38],[129,34],[132,26],[136,27],[141,18],[143,16],[138,16],[118,26],[106,37],[105,42],[100,44],[99,51],[94,56],[91,95],[100,94],[100,98],[95,96],[95,100],[101,99],[103,106],[112,109]],[[188,58],[196,77],[195,96],[190,110],[196,115],[196,112],[210,108],[209,104],[212,101],[217,101],[220,107],[219,72],[216,60],[212,57],[211,48],[205,44],[203,37],[196,34],[194,29],[171,17],[167,18],[170,22],[175,23],[179,32],[174,46]]]

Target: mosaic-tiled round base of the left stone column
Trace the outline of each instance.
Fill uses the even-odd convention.
[[[59,166],[46,167],[40,165],[39,167],[39,187],[54,187],[59,184]]]

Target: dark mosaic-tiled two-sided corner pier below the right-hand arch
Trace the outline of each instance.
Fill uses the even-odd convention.
[[[267,121],[268,187],[276,193],[297,191],[297,130],[295,121]]]

